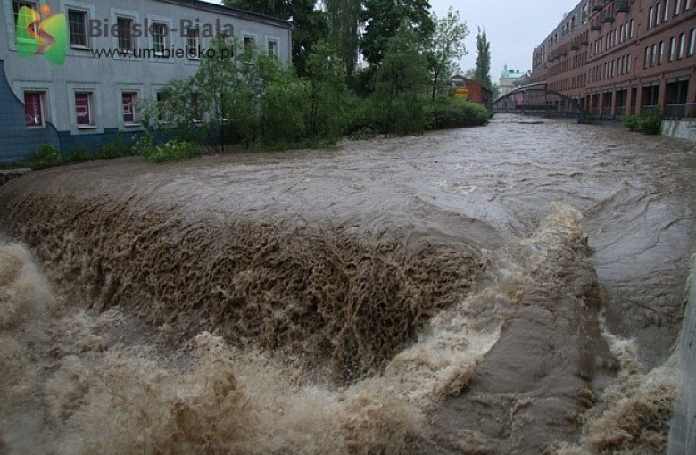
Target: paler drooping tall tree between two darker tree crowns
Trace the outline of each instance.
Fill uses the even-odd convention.
[[[352,79],[360,51],[362,0],[325,0],[330,29],[329,43],[344,61],[345,74]]]

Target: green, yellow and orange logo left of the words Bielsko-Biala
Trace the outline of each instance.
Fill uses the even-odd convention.
[[[17,52],[20,57],[44,53],[48,62],[62,65],[68,50],[68,27],[65,14],[51,16],[51,7],[41,6],[41,16],[33,8],[22,6],[17,15]]]

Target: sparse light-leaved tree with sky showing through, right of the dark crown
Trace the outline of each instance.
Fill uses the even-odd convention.
[[[433,99],[442,85],[442,81],[451,77],[460,68],[457,60],[467,54],[464,39],[468,36],[467,24],[460,23],[460,12],[452,7],[447,16],[437,19],[433,14],[435,33],[430,42],[429,62],[433,76]]]

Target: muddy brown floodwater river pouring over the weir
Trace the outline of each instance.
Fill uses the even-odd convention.
[[[518,120],[0,187],[0,453],[664,451],[694,149]]]

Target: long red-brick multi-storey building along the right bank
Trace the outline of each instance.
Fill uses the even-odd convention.
[[[545,82],[603,117],[696,117],[696,1],[583,0],[532,56]]]

